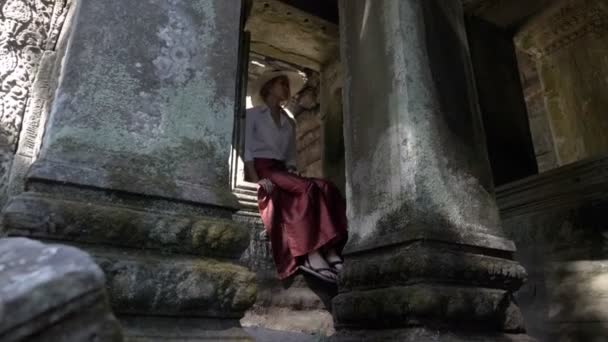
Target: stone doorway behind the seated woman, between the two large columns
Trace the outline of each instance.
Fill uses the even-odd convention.
[[[329,2],[333,4],[329,9],[327,3],[254,0],[245,14],[231,186],[241,204],[239,216],[253,230],[243,259],[256,272],[258,300],[241,321],[244,326],[322,336],[334,332],[331,298],[335,288],[302,275],[286,283],[277,279],[269,242],[261,235],[256,185],[248,182],[241,157],[245,109],[251,106],[247,84],[265,70],[297,71],[306,84],[286,110],[297,123],[298,170],[307,177],[330,179],[344,190],[338,8],[337,2]]]

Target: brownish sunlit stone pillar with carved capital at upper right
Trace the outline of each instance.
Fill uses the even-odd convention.
[[[555,1],[515,41],[536,61],[558,165],[608,153],[608,4]]]

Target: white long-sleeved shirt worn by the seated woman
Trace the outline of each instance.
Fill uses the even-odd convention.
[[[296,166],[295,123],[281,113],[281,124],[272,119],[268,106],[247,110],[245,128],[245,161],[254,158],[282,160],[287,166]]]

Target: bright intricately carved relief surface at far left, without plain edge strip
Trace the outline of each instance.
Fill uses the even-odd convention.
[[[24,113],[45,52],[55,49],[71,0],[7,0],[0,8],[0,193],[8,185]],[[37,130],[37,127],[36,127]]]

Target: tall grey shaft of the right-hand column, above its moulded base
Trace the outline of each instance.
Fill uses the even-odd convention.
[[[415,231],[439,230],[446,241],[500,237],[460,4],[367,6],[344,2],[342,15],[347,250]],[[492,247],[476,240],[468,243]]]

